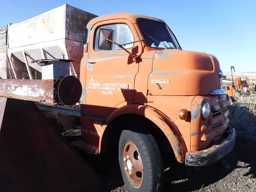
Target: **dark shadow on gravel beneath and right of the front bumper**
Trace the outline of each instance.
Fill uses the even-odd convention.
[[[255,141],[237,137],[233,150],[219,161],[208,166],[185,166],[168,158],[163,158],[168,169],[165,171],[164,191],[199,191],[219,181],[222,181],[220,182],[220,185],[223,184],[222,187],[227,187],[225,190],[224,188],[221,189],[220,186],[221,191],[229,191],[228,185],[240,182],[241,177],[256,177],[255,154]],[[241,171],[238,173],[237,169]],[[229,177],[230,174],[232,176]],[[208,189],[218,191],[213,188]]]

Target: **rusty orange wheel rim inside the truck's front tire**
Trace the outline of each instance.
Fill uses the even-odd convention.
[[[143,165],[135,144],[128,141],[123,147],[124,171],[134,187],[140,187],[143,180]]]

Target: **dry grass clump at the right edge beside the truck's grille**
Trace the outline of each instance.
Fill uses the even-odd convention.
[[[236,129],[237,136],[256,140],[256,94],[238,95],[230,109],[230,123]]]

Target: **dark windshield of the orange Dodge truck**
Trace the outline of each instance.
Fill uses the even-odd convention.
[[[181,49],[177,39],[165,23],[148,19],[137,20],[146,44],[163,49]]]

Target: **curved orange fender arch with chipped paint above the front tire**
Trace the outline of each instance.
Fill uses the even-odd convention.
[[[180,163],[185,162],[187,148],[180,132],[165,114],[155,108],[139,104],[124,105],[115,110],[113,113],[110,113],[109,117],[104,123],[105,126],[107,126],[117,116],[128,113],[138,114],[155,123],[169,140],[177,161]]]

